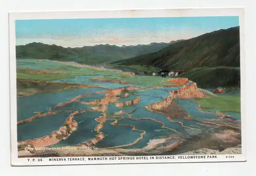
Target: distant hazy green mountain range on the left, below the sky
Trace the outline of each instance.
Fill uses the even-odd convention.
[[[74,61],[84,64],[110,63],[116,60],[132,58],[138,55],[156,52],[172,43],[151,43],[149,45],[122,46],[95,45],[81,48],[64,48],[44,43],[28,43],[27,45],[16,46],[16,58],[49,59],[59,61]]]

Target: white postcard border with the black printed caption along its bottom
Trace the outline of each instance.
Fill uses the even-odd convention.
[[[246,75],[245,75],[245,21],[244,8],[200,8],[200,9],[141,9],[141,10],[90,10],[90,11],[58,11],[58,12],[11,12],[9,13],[9,50],[10,50],[10,128],[11,128],[11,165],[29,166],[29,165],[77,165],[77,164],[132,164],[132,163],[186,163],[186,162],[232,162],[246,161]],[[242,154],[241,155],[217,155],[217,159],[176,159],[158,160],[159,156],[140,156],[149,159],[142,160],[104,160],[90,161],[89,158],[111,158],[111,157],[56,157],[58,159],[66,158],[84,158],[84,161],[49,161],[49,158],[18,158],[17,151],[17,97],[16,97],[16,51],[15,51],[15,20],[18,19],[72,19],[72,18],[131,18],[131,17],[199,17],[199,16],[239,16],[240,25],[240,64],[241,64],[241,126],[242,126]],[[195,155],[191,155],[195,156]],[[190,157],[191,157],[190,156]],[[213,155],[215,156],[215,155]],[[155,157],[155,159],[150,159]],[[189,156],[183,156],[189,157]],[[232,158],[233,157],[233,158]],[[117,157],[118,158],[118,157]],[[28,161],[30,159],[30,161]],[[31,160],[42,160],[31,162]]]

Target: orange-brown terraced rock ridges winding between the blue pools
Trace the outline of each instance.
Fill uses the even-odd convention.
[[[169,80],[170,86],[179,86],[179,90],[175,91],[169,91],[169,96],[164,98],[162,101],[148,104],[145,106],[145,109],[150,112],[155,112],[158,114],[164,115],[169,122],[175,123],[180,125],[182,128],[185,130],[194,130],[193,125],[185,125],[183,122],[178,121],[177,119],[182,119],[185,121],[195,121],[199,125],[210,125],[210,126],[219,126],[219,127],[225,127],[227,129],[231,129],[234,131],[239,131],[241,130],[241,125],[240,124],[234,124],[233,119],[231,116],[225,115],[225,114],[220,114],[220,113],[212,113],[212,112],[204,112],[201,108],[200,105],[198,105],[198,109],[203,112],[203,113],[211,113],[219,117],[219,119],[213,119],[213,120],[201,120],[201,119],[195,119],[192,118],[187,112],[185,112],[177,103],[176,99],[186,99],[191,101],[191,98],[202,98],[202,97],[207,97],[207,95],[203,94],[200,89],[198,89],[197,84],[194,82],[191,82],[187,79],[175,79],[175,80]],[[162,86],[159,86],[162,88]],[[152,87],[151,87],[152,88]],[[140,89],[137,86],[127,86],[127,87],[121,87],[118,89],[112,89],[108,91],[101,91],[101,92],[95,92],[95,93],[88,93],[88,94],[82,94],[79,96],[76,96],[69,101],[59,103],[55,106],[53,106],[53,109],[56,109],[56,111],[49,111],[44,114],[37,114],[29,119],[19,121],[19,124],[22,123],[28,123],[34,120],[35,118],[44,118],[47,115],[50,114],[57,114],[60,113],[61,111],[58,111],[59,107],[68,105],[72,102],[79,102],[81,104],[85,104],[90,106],[89,109],[82,109],[80,111],[71,111],[71,115],[67,118],[65,124],[61,126],[58,130],[53,131],[51,134],[37,138],[37,139],[32,139],[32,140],[26,140],[26,141],[20,141],[18,150],[19,150],[19,157],[24,157],[28,155],[28,152],[24,151],[26,147],[32,148],[31,153],[29,154],[30,156],[37,156],[37,155],[57,155],[57,156],[122,156],[122,155],[138,155],[138,154],[143,154],[143,155],[154,155],[157,154],[159,155],[160,153],[164,153],[167,151],[172,151],[177,149],[182,143],[186,140],[184,134],[180,133],[180,131],[177,131],[174,128],[167,127],[165,123],[162,121],[156,120],[152,117],[144,117],[144,118],[135,118],[133,117],[132,113],[124,113],[122,110],[119,110],[117,112],[114,112],[111,115],[107,115],[107,110],[108,106],[110,104],[115,104],[117,108],[122,108],[125,106],[135,106],[140,103],[141,97],[138,96],[133,100],[126,101],[126,102],[117,102],[121,98],[129,97],[131,96],[131,91],[138,91],[138,92],[143,92],[151,89],[150,87],[146,87],[145,89]],[[156,87],[154,87],[156,89]],[[152,88],[153,89],[153,88]],[[80,99],[82,97],[86,96],[92,96],[96,94],[105,94],[104,98],[101,99],[96,99],[94,101],[90,102],[84,102],[81,101]],[[78,127],[77,122],[73,119],[74,116],[80,113],[87,113],[90,111],[97,111],[100,112],[102,115],[99,116],[98,118],[95,119],[97,122],[97,125],[94,128],[94,131],[97,133],[97,135],[88,140],[81,142],[75,147],[92,147],[97,145],[100,141],[104,140],[105,134],[102,133],[102,128],[104,128],[104,125],[108,121],[112,121],[110,124],[113,126],[128,126],[131,127],[133,130],[133,133],[140,133],[140,136],[138,139],[135,139],[132,143],[127,143],[123,145],[116,145],[112,147],[104,147],[104,148],[97,148],[94,150],[69,150],[69,151],[64,151],[61,149],[58,150],[38,150],[37,148],[40,147],[46,147],[50,146],[52,144],[56,144],[61,140],[67,139],[73,131],[75,131]],[[131,149],[125,147],[130,147],[135,144],[137,144],[140,140],[143,139],[144,135],[146,134],[146,131],[143,129],[138,129],[135,125],[131,124],[120,124],[119,122],[122,121],[124,118],[128,118],[132,121],[154,121],[156,123],[159,123],[161,125],[162,129],[174,131],[175,135],[170,135],[170,137],[165,137],[165,138],[159,138],[159,139],[152,139],[147,146],[141,149]],[[236,132],[239,134],[239,132]],[[229,132],[227,134],[230,134]],[[216,140],[223,139],[224,142],[229,138],[227,134],[215,134]],[[218,139],[217,139],[218,138]],[[237,136],[236,136],[237,138]]]

